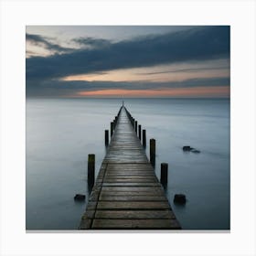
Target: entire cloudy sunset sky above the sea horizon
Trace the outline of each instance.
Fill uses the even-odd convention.
[[[28,26],[27,97],[229,98],[229,26]]]

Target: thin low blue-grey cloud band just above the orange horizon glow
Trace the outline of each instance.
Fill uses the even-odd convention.
[[[200,86],[229,86],[229,78],[192,79],[173,82],[29,80],[27,81],[27,96],[57,97],[74,95],[80,91],[108,89],[160,90],[163,88],[195,88]]]

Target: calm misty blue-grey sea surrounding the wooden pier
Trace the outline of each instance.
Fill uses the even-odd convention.
[[[124,99],[156,140],[155,173],[169,164],[166,196],[183,229],[229,229],[229,100]],[[105,155],[104,130],[118,99],[27,99],[27,229],[77,229],[86,203],[87,155],[97,173]],[[200,154],[184,153],[190,145]],[[149,148],[146,148],[148,155]],[[176,193],[187,204],[173,203]],[[88,197],[87,197],[88,198]]]

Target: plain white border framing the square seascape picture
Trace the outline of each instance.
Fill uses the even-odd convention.
[[[1,1],[1,255],[256,255],[254,1]],[[26,233],[27,25],[231,26],[230,233]]]

